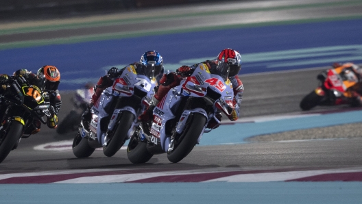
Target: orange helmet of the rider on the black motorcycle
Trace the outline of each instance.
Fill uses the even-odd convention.
[[[45,90],[57,90],[60,83],[60,72],[58,68],[51,65],[45,65],[39,68],[36,77],[39,80],[41,88]]]

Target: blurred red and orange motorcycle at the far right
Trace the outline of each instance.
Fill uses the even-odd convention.
[[[337,100],[350,99],[350,88],[359,82],[352,68],[331,68],[319,73],[317,79],[319,86],[300,102],[302,110],[311,110],[317,105],[335,105]]]

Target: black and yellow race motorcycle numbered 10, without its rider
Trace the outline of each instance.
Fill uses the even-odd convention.
[[[0,95],[0,163],[10,151],[16,149],[21,138],[40,131],[40,123],[54,113],[49,103],[49,93],[29,84],[22,76],[11,77]],[[37,125],[36,125],[37,124]]]

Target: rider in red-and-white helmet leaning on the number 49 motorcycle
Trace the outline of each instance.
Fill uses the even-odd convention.
[[[238,77],[239,71],[241,70],[241,55],[239,52],[234,49],[224,49],[219,55],[217,55],[216,60],[206,60],[201,62],[207,64],[210,73],[225,76],[232,83],[232,88],[234,90],[234,110],[232,114],[226,115],[232,121],[235,121],[239,118],[239,106],[241,105],[241,100],[243,98],[243,83]],[[200,63],[198,63],[200,64]],[[142,122],[147,122],[152,119],[154,107],[162,100],[163,97],[171,90],[171,88],[179,86],[180,82],[184,77],[192,75],[193,71],[198,64],[192,66],[181,66],[176,70],[176,73],[169,73],[168,75],[163,75],[160,79],[160,85],[154,97],[152,97],[151,103],[147,110],[138,116],[138,120]],[[216,117],[221,121],[221,112],[218,110]],[[210,120],[208,122],[208,128],[215,129],[219,126],[219,123],[215,120]]]

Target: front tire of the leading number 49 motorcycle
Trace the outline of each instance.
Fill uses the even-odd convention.
[[[201,135],[205,124],[206,117],[195,113],[182,135],[178,138],[179,140],[176,140],[173,151],[167,152],[167,159],[170,162],[177,163],[186,157],[197,143],[197,139]]]

